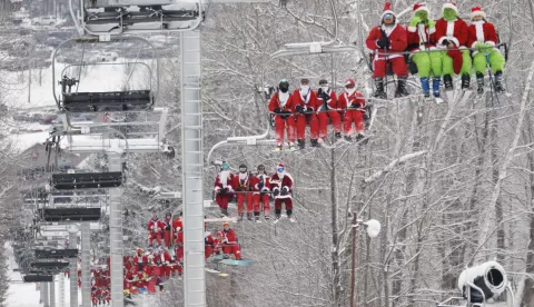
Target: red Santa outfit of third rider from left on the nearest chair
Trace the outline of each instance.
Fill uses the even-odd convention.
[[[443,9],[445,10],[446,8],[452,8],[457,11],[456,6],[453,3],[445,3]],[[442,18],[436,21],[437,47],[446,49],[447,47],[443,44],[445,40],[454,44],[453,50],[447,50],[447,56],[453,59],[453,69],[456,75],[461,72],[464,62],[462,51],[457,49],[467,48],[467,38],[468,29],[464,20],[456,18],[454,21],[447,21],[445,18]]]

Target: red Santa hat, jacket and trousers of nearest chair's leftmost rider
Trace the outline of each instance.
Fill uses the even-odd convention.
[[[390,9],[390,3],[388,2],[386,2],[380,20],[384,19],[384,16],[387,13],[395,16]],[[386,77],[388,62],[392,63],[393,72],[397,75],[397,77],[408,77],[404,55],[399,53],[406,50],[406,47],[408,46],[408,37],[406,30],[403,26],[397,23],[396,19],[397,18],[395,17],[395,23],[393,26],[380,24],[373,28],[365,41],[367,48],[375,52],[373,60],[375,71],[373,76],[374,78]],[[383,49],[377,44],[383,36],[383,31],[389,40],[388,49]]]

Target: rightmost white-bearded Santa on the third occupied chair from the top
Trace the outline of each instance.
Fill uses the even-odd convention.
[[[275,222],[278,222],[281,216],[281,204],[286,205],[287,218],[291,222],[296,220],[293,218],[293,177],[286,172],[283,164],[276,168],[276,174],[270,177],[270,187],[275,195]]]

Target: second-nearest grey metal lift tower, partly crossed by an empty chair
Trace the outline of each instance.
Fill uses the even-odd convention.
[[[122,169],[121,155],[108,154],[109,170]],[[122,188],[109,190],[109,251],[111,265],[111,307],[123,307],[123,264],[122,264]],[[85,307],[85,306],[83,306]]]

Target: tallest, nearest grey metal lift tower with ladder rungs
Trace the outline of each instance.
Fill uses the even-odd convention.
[[[184,199],[184,306],[206,306],[200,32],[180,33]]]

